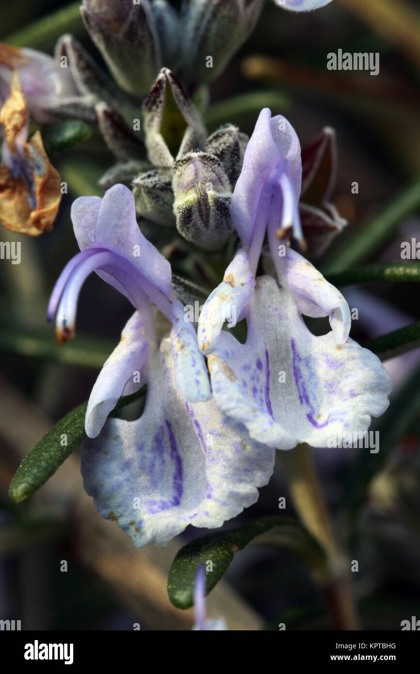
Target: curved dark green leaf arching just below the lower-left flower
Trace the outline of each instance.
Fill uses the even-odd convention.
[[[252,539],[276,528],[276,547],[297,554],[311,568],[326,565],[320,545],[298,522],[289,517],[261,517],[230,531],[209,534],[184,545],[177,553],[168,577],[169,599],[179,609],[193,605],[193,587],[200,564],[212,561],[212,572],[206,573],[206,594],[229,568],[233,555]]]

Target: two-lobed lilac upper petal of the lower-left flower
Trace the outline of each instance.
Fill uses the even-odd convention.
[[[71,220],[80,250],[104,248],[125,257],[172,299],[171,265],[140,232],[134,197],[128,187],[114,185],[102,199],[79,197],[71,205]],[[109,278],[105,280],[109,282]]]

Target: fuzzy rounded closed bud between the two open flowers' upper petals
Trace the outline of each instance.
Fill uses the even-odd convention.
[[[179,233],[206,250],[221,248],[233,231],[231,185],[222,163],[206,152],[189,152],[173,168],[173,210]]]

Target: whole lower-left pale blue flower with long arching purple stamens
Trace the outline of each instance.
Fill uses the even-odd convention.
[[[196,331],[173,295],[169,262],[138,228],[131,191],[115,185],[103,199],[80,197],[71,218],[81,252],[49,306],[60,340],[74,334],[78,295],[94,271],[136,307],[90,395],[84,487],[100,515],[117,520],[137,547],[166,545],[188,524],[221,526],[258,499],[274,452],[210,399]],[[172,323],[160,344],[151,303]],[[140,419],[107,420],[119,396],[144,383]]]

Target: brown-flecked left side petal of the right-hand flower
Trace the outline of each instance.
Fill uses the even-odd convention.
[[[241,249],[224,272],[222,282],[214,288],[202,308],[198,320],[198,344],[202,353],[210,353],[224,321],[233,327],[241,319],[241,313],[253,295],[254,285],[247,252]]]

